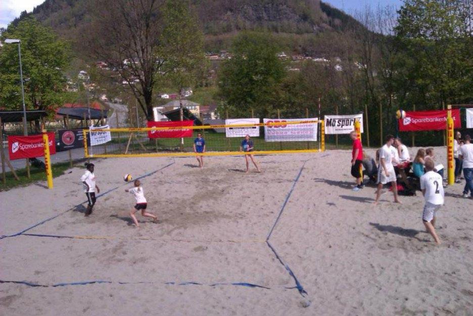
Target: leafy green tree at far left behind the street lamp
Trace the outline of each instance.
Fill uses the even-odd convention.
[[[21,40],[21,63],[27,109],[52,112],[65,100],[65,69],[70,63],[68,43],[34,18],[26,18],[2,32],[0,40]],[[21,81],[18,44],[0,47],[0,106],[21,109]]]

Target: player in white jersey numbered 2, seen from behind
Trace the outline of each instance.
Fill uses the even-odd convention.
[[[434,237],[436,244],[440,245],[439,236],[435,232],[435,215],[444,203],[443,179],[434,171],[434,161],[430,158],[425,159],[425,171],[427,172],[420,177],[420,190],[425,199],[422,221],[425,229]]]

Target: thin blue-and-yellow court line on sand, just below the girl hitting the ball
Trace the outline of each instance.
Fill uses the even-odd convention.
[[[114,237],[114,236],[65,236],[65,235],[48,235],[48,234],[28,234],[23,233],[23,236],[30,237],[50,237],[50,238],[67,238],[67,239],[92,239],[92,240],[130,240],[125,237]],[[150,238],[150,237],[136,237],[137,240],[153,240],[153,241],[162,241],[162,242],[184,242],[184,243],[265,243],[264,239],[237,239],[237,240],[199,240],[199,239],[160,239],[160,238]]]

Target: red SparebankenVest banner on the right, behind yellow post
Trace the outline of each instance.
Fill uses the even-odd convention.
[[[453,127],[461,128],[460,109],[452,110]],[[440,130],[447,127],[447,110],[406,112],[399,120],[399,131]]]

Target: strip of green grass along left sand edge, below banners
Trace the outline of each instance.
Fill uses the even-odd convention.
[[[76,161],[73,167],[79,167],[79,163],[81,161],[83,160]],[[71,167],[69,161],[67,161],[55,163],[51,166],[51,168],[53,169],[53,178],[55,178],[64,174],[65,171]],[[0,191],[8,191],[17,187],[25,187],[38,181],[46,182],[46,172],[43,169],[30,166],[30,178],[26,176],[26,168],[16,169],[15,171],[20,180],[15,179],[11,171],[5,172],[7,183],[3,183],[3,178],[0,179]],[[47,186],[47,184],[44,185]]]

